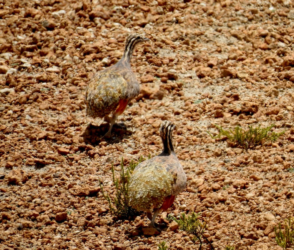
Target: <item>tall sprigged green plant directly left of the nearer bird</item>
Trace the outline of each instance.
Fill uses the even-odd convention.
[[[149,155],[150,158],[150,155]],[[146,160],[142,156],[139,158],[138,162],[134,162],[133,160],[129,165],[124,166],[123,158],[121,159],[121,171],[120,178],[115,178],[114,176],[114,167],[112,164],[112,180],[115,186],[115,197],[111,198],[107,193],[104,192],[103,183],[99,180],[99,186],[101,188],[101,192],[103,197],[108,201],[110,213],[116,216],[117,218],[127,219],[136,215],[138,212],[129,206],[129,198],[128,198],[128,183],[130,181],[131,174],[136,166]]]

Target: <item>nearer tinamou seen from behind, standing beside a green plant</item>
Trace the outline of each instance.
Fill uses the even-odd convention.
[[[138,211],[146,211],[151,221],[148,227],[158,231],[157,214],[170,208],[176,196],[186,188],[187,177],[173,149],[174,128],[168,120],[161,123],[162,153],[139,163],[128,185],[129,205]]]

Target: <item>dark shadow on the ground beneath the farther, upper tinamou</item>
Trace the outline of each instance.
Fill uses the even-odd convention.
[[[133,131],[121,128],[121,125],[115,123],[111,130],[111,138],[105,138],[104,135],[109,129],[109,123],[102,123],[99,126],[90,123],[81,135],[86,144],[97,146],[101,141],[106,141],[108,144],[118,143],[123,138],[129,138]]]

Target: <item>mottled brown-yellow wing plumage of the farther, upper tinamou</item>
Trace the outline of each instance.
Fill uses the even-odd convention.
[[[93,117],[104,117],[115,111],[118,102],[125,99],[128,82],[115,70],[99,71],[89,82],[85,102],[87,114]]]

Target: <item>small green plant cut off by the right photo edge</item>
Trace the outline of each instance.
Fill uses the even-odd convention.
[[[294,217],[286,219],[284,222],[285,229],[282,231],[281,223],[279,222],[278,229],[275,226],[275,239],[279,246],[283,249],[294,247]]]

